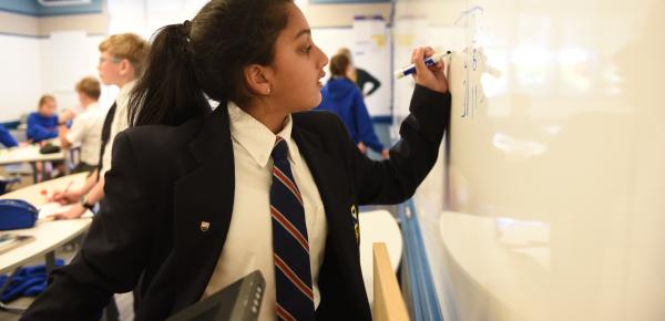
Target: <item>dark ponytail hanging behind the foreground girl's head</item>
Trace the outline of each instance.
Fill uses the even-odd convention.
[[[196,85],[185,24],[166,25],[154,37],[145,72],[130,97],[132,126],[178,125],[211,111]]]

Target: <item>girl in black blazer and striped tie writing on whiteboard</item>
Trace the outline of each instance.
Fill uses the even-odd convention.
[[[22,320],[93,320],[130,290],[136,320],[164,320],[256,269],[262,321],[371,320],[354,215],[406,200],[437,161],[450,95],[443,63],[424,65],[432,53],[413,51],[402,138],[372,161],[337,116],[309,112],[328,59],[293,1],[213,0],[166,25],[101,211]],[[211,112],[207,97],[223,103]]]

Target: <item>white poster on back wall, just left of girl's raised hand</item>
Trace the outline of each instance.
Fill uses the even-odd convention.
[[[365,70],[380,82],[378,90],[366,95],[365,104],[372,117],[391,115],[390,34],[382,17],[356,17],[351,54],[356,69]],[[360,89],[368,93],[371,84]]]

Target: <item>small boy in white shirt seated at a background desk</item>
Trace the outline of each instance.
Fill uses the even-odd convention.
[[[76,115],[71,128],[60,126],[58,137],[63,148],[81,143],[81,162],[72,173],[92,172],[99,163],[102,126],[105,117],[104,112],[98,105],[101,94],[100,82],[91,76],[84,77],[76,84],[76,93],[83,113]]]

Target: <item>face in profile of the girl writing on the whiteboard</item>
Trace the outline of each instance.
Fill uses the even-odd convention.
[[[288,23],[275,43],[270,65],[272,99],[286,112],[307,111],[321,102],[321,79],[326,54],[314,44],[309,23],[298,7],[288,3]]]

